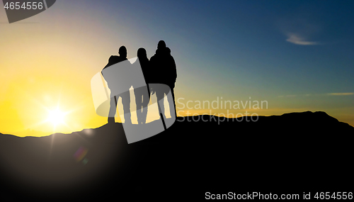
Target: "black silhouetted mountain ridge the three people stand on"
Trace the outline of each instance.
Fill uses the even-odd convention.
[[[256,122],[217,118],[178,117],[163,133],[130,145],[121,123],[41,138],[1,134],[0,199],[133,201],[178,191],[175,197],[198,200],[206,191],[353,184],[354,128],[347,123],[321,111]]]

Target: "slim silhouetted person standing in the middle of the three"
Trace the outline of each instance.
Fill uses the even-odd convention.
[[[142,68],[142,73],[144,74],[145,82],[147,86],[139,87],[134,89],[135,101],[137,103],[137,123],[146,123],[147,120],[147,105],[150,101],[150,91],[149,91],[149,59],[147,58],[147,51],[140,47],[137,50],[137,57],[139,59],[140,67]],[[133,63],[133,65],[138,62]]]

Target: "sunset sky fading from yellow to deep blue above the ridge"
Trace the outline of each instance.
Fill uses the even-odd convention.
[[[159,40],[176,60],[178,108],[179,98],[268,101],[229,113],[325,111],[354,125],[353,8],[353,1],[57,0],[11,24],[0,8],[0,133],[50,135],[45,108],[58,103],[71,113],[55,132],[107,123],[94,111],[91,78],[121,45],[128,58],[139,47],[152,57]]]

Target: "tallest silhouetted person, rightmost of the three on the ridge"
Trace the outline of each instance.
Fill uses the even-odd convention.
[[[156,54],[150,58],[150,65],[152,67],[152,83],[166,84],[171,89],[171,94],[173,98],[173,107],[175,109],[176,114],[176,103],[174,103],[175,95],[173,88],[175,87],[176,79],[177,79],[177,69],[176,62],[171,56],[171,50],[169,47],[166,47],[166,43],[163,40],[160,40],[157,45]],[[164,95],[169,93],[168,88],[159,88],[153,89],[156,91],[157,100],[164,99]],[[169,101],[169,100],[168,100]],[[171,101],[169,101],[169,106],[171,106]],[[162,105],[160,106],[161,112],[164,113],[164,102],[162,101]],[[164,115],[165,116],[165,115]]]

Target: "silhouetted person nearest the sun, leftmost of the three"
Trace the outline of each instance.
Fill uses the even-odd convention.
[[[108,64],[105,65],[105,68],[110,67],[113,64],[116,64],[118,62],[123,62],[127,60],[127,49],[125,48],[124,45],[122,45],[119,48],[119,56],[118,55],[111,55]],[[127,62],[124,63],[124,67],[119,66],[119,68],[124,68],[122,69],[123,73],[128,73],[129,68],[130,68],[130,62],[127,60]],[[112,68],[112,67],[111,67]],[[130,87],[132,86],[131,84],[127,82],[120,82],[119,86],[117,85],[119,81],[117,81],[115,75],[110,75],[110,74],[103,74],[103,77],[105,78],[105,81],[108,84],[108,88],[110,89],[110,94],[114,94],[116,96],[110,98],[110,111],[108,114],[108,123],[115,123],[115,112],[117,109],[117,103],[119,97],[122,98],[122,105],[123,105],[123,111],[124,111],[124,118],[125,118],[125,123],[132,123],[130,119]],[[127,76],[129,77],[129,76]],[[123,89],[123,90],[122,90]],[[122,91],[122,92],[121,92]],[[119,92],[119,94],[118,94]]]

